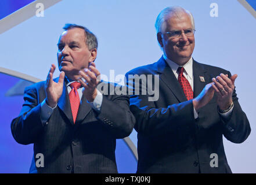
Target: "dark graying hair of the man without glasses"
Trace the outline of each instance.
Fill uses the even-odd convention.
[[[85,43],[89,50],[98,48],[98,40],[97,40],[96,36],[91,31],[89,31],[89,29],[87,29],[86,27],[83,27],[82,25],[77,25],[77,24],[65,24],[63,27],[63,29],[65,31],[67,31],[68,29],[72,29],[72,28],[84,29],[85,38],[86,38]]]

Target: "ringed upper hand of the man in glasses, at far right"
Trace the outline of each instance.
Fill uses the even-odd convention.
[[[217,94],[217,103],[219,109],[226,110],[232,104],[232,94],[235,89],[236,78],[236,74],[231,76],[229,79],[228,75],[221,73],[221,75],[212,79],[212,82],[214,82],[212,87],[214,87],[214,90]]]

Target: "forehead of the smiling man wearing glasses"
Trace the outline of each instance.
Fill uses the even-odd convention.
[[[188,29],[192,28],[192,19],[189,13],[182,12],[174,12],[170,13],[164,17],[163,24],[161,25],[161,31],[170,31],[172,29]]]

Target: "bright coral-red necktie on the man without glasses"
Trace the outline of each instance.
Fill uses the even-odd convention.
[[[69,92],[70,106],[72,110],[72,116],[75,124],[75,119],[77,119],[77,112],[80,105],[80,99],[77,89],[80,88],[81,84],[79,82],[73,82],[70,84],[72,90]]]

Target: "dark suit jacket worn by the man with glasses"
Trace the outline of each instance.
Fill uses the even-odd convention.
[[[212,77],[220,73],[231,76],[230,72],[224,69],[193,60],[194,97],[211,82]],[[145,82],[137,81],[140,95],[134,95],[136,81],[128,80],[128,86],[133,93],[130,109],[136,117],[135,129],[138,132],[137,172],[231,173],[222,136],[231,142],[241,143],[251,131],[246,114],[239,105],[236,91],[233,92],[234,107],[230,119],[222,119],[214,96],[199,110],[199,117],[195,120],[192,100],[186,99],[178,80],[163,57],[154,64],[129,71],[126,76],[128,78],[128,75],[135,74],[159,75],[157,101],[148,100],[153,96],[152,93],[142,95],[143,88],[148,88],[145,85],[149,84],[148,79]],[[205,82],[200,81],[200,76],[204,77]],[[153,81],[154,83],[156,82]]]

